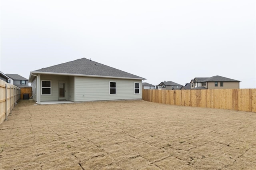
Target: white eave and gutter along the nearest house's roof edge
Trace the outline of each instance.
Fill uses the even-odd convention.
[[[132,80],[146,80],[144,78],[132,78],[132,77],[112,77],[112,76],[102,76],[102,75],[84,75],[84,74],[70,74],[70,73],[50,73],[50,72],[40,72],[40,71],[31,71],[29,75],[29,82],[32,83],[34,80],[32,74],[48,74],[48,75],[67,75],[67,76],[82,76],[82,77],[98,77],[98,78],[112,78],[112,79],[132,79]]]

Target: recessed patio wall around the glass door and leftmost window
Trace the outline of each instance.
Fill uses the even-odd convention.
[[[41,85],[42,81],[51,81],[51,94],[50,95],[42,95]],[[66,99],[69,100],[69,77],[61,76],[61,75],[40,75],[40,101],[58,101],[58,82],[65,81],[66,82]]]

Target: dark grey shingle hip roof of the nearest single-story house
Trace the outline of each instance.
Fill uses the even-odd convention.
[[[95,75],[95,76],[106,76],[106,77],[124,77],[124,78],[135,78],[144,79],[137,75],[127,73],[125,71],[109,67],[107,65],[92,61],[90,59],[81,58],[67,63],[54,65],[38,69],[33,72],[47,72],[47,73],[64,73],[64,74],[75,74],[75,75]]]

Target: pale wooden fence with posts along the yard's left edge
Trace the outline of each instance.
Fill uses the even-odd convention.
[[[20,88],[0,80],[0,124],[7,120],[19,99]]]

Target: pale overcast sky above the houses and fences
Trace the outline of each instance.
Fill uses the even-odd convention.
[[[255,0],[1,0],[0,71],[93,61],[158,85],[220,75],[256,88]]]

